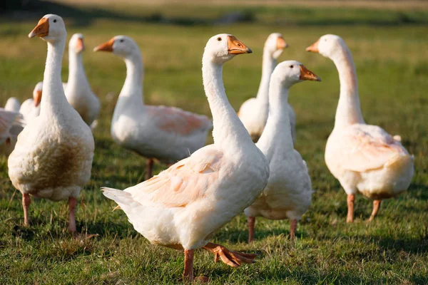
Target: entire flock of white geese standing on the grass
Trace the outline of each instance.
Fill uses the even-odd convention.
[[[30,38],[35,36],[48,45],[44,81],[37,84],[33,99],[20,106],[11,98],[0,110],[1,151],[10,154],[9,177],[23,195],[24,224],[29,224],[31,196],[68,199],[68,229],[76,232],[76,197],[91,177],[95,147],[91,126],[96,125],[100,102],[83,68],[83,36],[75,34],[69,42],[67,83],[61,82],[63,19],[47,14],[29,33]],[[115,201],[150,242],[184,251],[185,279],[194,279],[195,249],[212,252],[215,261],[230,266],[253,262],[255,254],[209,242],[241,212],[248,217],[252,242],[255,217],[290,219],[294,237],[297,221],[310,207],[311,180],[306,162],[294,149],[295,113],[287,98],[296,83],[321,80],[300,62],[277,64],[284,48],[287,43],[280,33],[267,38],[257,97],[245,101],[237,115],[223,86],[223,64],[252,51],[230,34],[208,40],[202,76],[213,120],[144,104],[143,60],[132,38],[115,36],[94,48],[126,63],[126,80],[111,123],[113,140],[148,160],[146,181],[123,191],[103,188],[103,195]],[[414,157],[399,136],[365,123],[355,65],[342,38],[325,35],[306,50],[330,58],[339,73],[340,99],[325,162],[347,193],[347,222],[354,219],[357,193],[374,200],[371,220],[382,199],[407,190]],[[211,128],[214,143],[204,146]],[[151,177],[155,159],[172,165]]]

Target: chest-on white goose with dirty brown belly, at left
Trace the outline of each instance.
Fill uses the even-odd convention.
[[[68,230],[76,232],[76,197],[91,177],[94,150],[91,129],[66,100],[61,61],[66,46],[63,19],[46,14],[29,33],[48,45],[39,117],[29,121],[9,156],[9,178],[21,193],[24,224],[29,224],[30,195],[68,199]]]

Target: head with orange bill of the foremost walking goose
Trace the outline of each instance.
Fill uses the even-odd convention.
[[[247,46],[238,41],[235,36],[220,33],[211,37],[205,46],[204,57],[208,56],[213,63],[223,64],[234,56],[243,53],[252,53]]]

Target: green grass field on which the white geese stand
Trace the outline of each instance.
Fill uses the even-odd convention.
[[[68,38],[76,32],[86,37],[86,74],[101,98],[102,110],[94,130],[91,182],[81,192],[76,213],[78,231],[99,234],[96,238],[81,241],[68,234],[66,202],[33,199],[31,225],[24,227],[21,193],[9,181],[7,158],[0,159],[0,284],[178,283],[183,253],[149,244],[123,212],[112,212],[116,204],[99,190],[102,186],[124,189],[141,182],[146,161],[118,147],[110,136],[125,64],[116,56],[91,49],[118,34],[133,37],[146,67],[146,103],[210,115],[200,71],[208,38],[233,33],[253,49],[253,54],[238,56],[224,67],[226,93],[238,110],[257,93],[263,44],[276,31],[290,44],[280,61],[301,61],[322,78],[321,83],[301,83],[290,91],[297,115],[296,148],[307,161],[315,189],[312,206],[297,227],[296,241],[288,238],[289,221],[259,218],[257,241],[248,245],[245,216],[235,217],[214,241],[257,253],[257,263],[233,269],[215,264],[213,255],[198,251],[196,276],[208,276],[212,284],[428,284],[428,4],[150,2],[45,3],[39,12],[1,15],[1,104],[11,96],[29,98],[34,85],[43,79],[46,43],[29,39],[27,34],[41,16],[55,13],[64,16]],[[228,11],[242,11],[248,21],[213,24]],[[342,36],[353,53],[366,122],[401,135],[415,157],[409,191],[382,202],[371,224],[365,221],[372,203],[361,196],[356,199],[356,222],[345,223],[345,192],[324,162],[339,81],[332,61],[306,53],[305,48],[325,33]],[[67,77],[66,55],[63,81]],[[157,164],[156,173],[165,167]]]

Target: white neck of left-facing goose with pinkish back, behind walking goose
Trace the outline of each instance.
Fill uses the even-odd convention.
[[[123,58],[126,63],[126,79],[113,113],[113,120],[128,108],[143,108],[143,58],[133,53]]]

